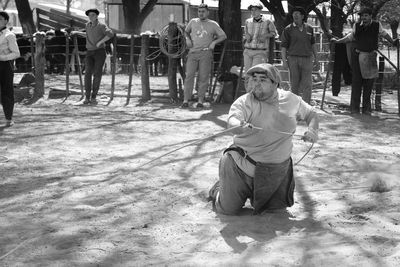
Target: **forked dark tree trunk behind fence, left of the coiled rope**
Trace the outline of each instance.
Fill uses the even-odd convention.
[[[148,0],[140,10],[140,0],[122,0],[124,10],[125,33],[140,34],[143,21],[151,13],[157,0]]]

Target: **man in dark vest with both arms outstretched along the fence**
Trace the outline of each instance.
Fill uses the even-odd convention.
[[[382,36],[392,44],[397,44],[392,37],[382,28],[382,24],[372,20],[372,9],[361,8],[360,21],[354,24],[352,31],[343,38],[332,38],[335,43],[354,41],[351,51],[351,100],[350,113],[360,113],[361,93],[363,95],[362,113],[371,114],[371,92],[374,80],[378,76],[378,64],[376,62],[378,50],[378,37]]]

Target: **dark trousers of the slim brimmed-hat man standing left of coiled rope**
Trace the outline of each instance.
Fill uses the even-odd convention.
[[[103,65],[106,60],[104,48],[86,51],[85,58],[85,95],[86,98],[96,98],[99,92]],[[93,82],[92,82],[93,75]]]

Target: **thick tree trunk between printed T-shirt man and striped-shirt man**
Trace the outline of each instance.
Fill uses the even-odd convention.
[[[233,65],[240,66],[242,58],[242,25],[240,1],[219,0],[219,24],[227,35],[227,47],[223,59],[222,70],[230,69]]]

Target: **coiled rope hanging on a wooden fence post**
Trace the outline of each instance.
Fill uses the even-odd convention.
[[[171,58],[182,57],[187,48],[184,25],[177,24],[176,26],[178,32],[171,42],[168,40],[169,24],[164,26],[160,32],[160,50]]]

